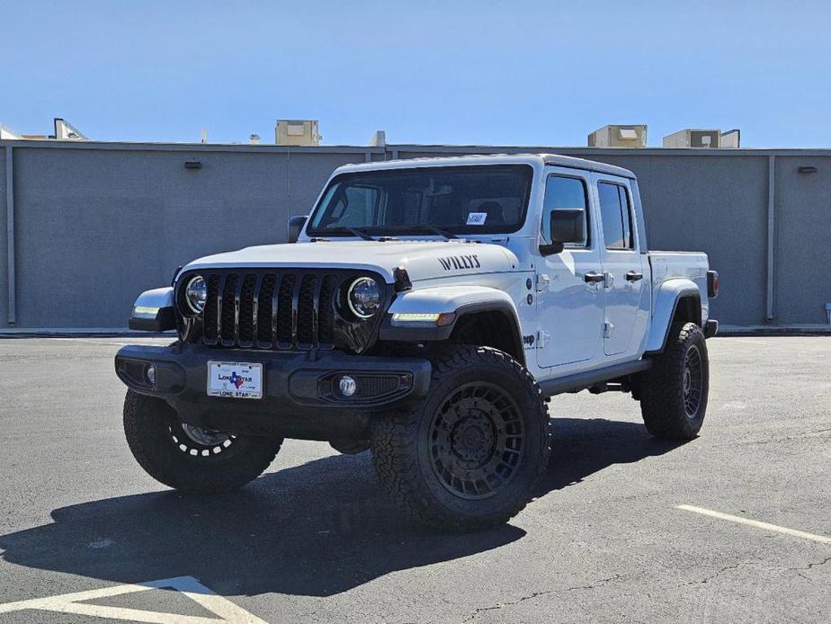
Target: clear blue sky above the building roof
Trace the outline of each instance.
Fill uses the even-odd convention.
[[[831,147],[828,2],[3,0],[0,123],[102,140],[582,146],[606,123]]]

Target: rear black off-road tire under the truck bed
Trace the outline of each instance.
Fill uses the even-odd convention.
[[[696,357],[698,372],[691,372],[690,360]],[[693,377],[700,381],[694,409],[691,390],[685,389],[685,384],[692,388],[696,383]],[[710,364],[701,327],[673,324],[664,352],[654,358],[651,369],[640,374],[638,383],[640,412],[648,431],[657,438],[692,440],[704,423],[710,390]]]

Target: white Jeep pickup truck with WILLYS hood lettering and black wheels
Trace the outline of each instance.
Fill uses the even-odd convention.
[[[124,428],[147,472],[224,492],[284,438],[370,449],[380,482],[442,530],[508,521],[550,454],[549,397],[630,392],[693,438],[707,407],[707,256],[649,251],[630,171],[565,156],[335,170],[290,244],[210,255],[137,300]]]

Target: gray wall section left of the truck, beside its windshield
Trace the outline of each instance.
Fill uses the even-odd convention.
[[[18,327],[123,326],[137,293],[165,285],[176,266],[285,240],[287,216],[308,209],[321,181],[364,161],[200,149],[13,155]],[[188,159],[201,169],[185,169]]]

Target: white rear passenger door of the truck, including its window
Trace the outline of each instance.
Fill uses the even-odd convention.
[[[630,183],[625,178],[595,174],[594,192],[603,243],[603,352],[624,356],[639,349],[646,331],[649,289],[646,254],[641,254]]]

